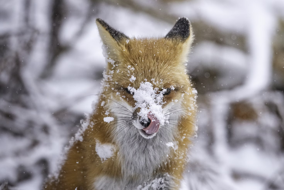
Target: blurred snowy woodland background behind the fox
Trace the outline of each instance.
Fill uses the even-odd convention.
[[[283,190],[283,0],[0,0],[0,184],[40,189],[91,112],[105,67],[95,18],[143,37],[183,16],[199,131],[182,189]]]

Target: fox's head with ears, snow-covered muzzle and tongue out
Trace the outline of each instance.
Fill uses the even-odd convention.
[[[196,95],[185,68],[193,42],[187,18],[165,37],[149,39],[129,38],[99,18],[96,23],[107,60],[103,94],[124,107],[116,112],[129,115],[142,137],[154,137],[170,110],[179,109],[175,118],[191,114],[180,111],[194,107]]]

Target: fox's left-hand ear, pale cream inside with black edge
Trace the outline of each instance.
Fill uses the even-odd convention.
[[[130,38],[122,32],[115,30],[100,18],[96,19],[96,23],[103,44],[106,46],[109,58],[116,59],[116,57],[120,54],[121,46]]]

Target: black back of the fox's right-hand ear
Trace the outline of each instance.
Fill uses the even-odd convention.
[[[187,18],[183,17],[176,22],[172,30],[165,36],[170,39],[181,39],[185,41],[190,36],[190,22]]]

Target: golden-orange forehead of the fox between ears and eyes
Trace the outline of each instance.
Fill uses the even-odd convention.
[[[138,88],[141,82],[151,82],[153,87],[168,88],[182,85],[187,79],[181,57],[182,45],[164,38],[126,40],[121,46],[118,66],[113,79],[127,87]],[[130,80],[131,77],[135,80]],[[178,77],[177,77],[178,76]],[[132,78],[133,79],[133,78]],[[146,79],[146,80],[145,80]]]

